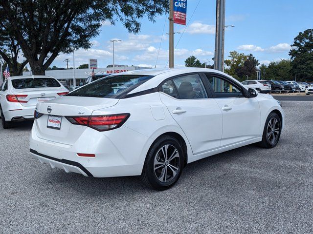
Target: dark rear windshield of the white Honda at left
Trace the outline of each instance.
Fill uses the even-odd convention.
[[[15,89],[52,88],[61,86],[54,78],[12,79],[12,85]]]

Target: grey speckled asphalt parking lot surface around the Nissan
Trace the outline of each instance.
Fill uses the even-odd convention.
[[[313,233],[313,101],[282,103],[277,147],[188,164],[162,192],[51,169],[28,153],[31,123],[0,127],[0,233]]]

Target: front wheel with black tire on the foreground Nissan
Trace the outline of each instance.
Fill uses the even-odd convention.
[[[271,126],[273,127],[271,128]],[[282,122],[280,117],[274,112],[270,113],[265,122],[262,141],[259,145],[264,148],[275,147],[279,141],[281,130]]]

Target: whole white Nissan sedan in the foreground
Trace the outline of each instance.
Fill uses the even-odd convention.
[[[211,69],[140,70],[38,103],[30,152],[84,176],[138,176],[163,190],[187,163],[247,144],[274,147],[279,102]]]

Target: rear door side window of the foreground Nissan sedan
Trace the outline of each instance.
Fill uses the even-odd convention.
[[[208,98],[201,77],[198,74],[174,78],[173,82],[178,90],[179,99]]]

